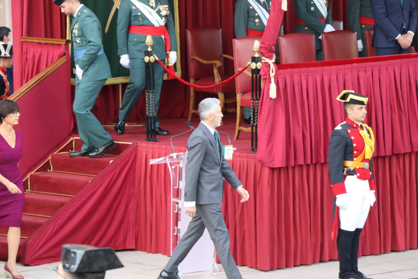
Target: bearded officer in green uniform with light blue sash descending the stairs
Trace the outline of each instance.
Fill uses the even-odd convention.
[[[102,45],[102,26],[97,16],[79,0],[54,0],[71,18],[71,42],[74,49],[76,94],[73,110],[83,146],[72,157],[98,157],[115,147],[112,137],[91,112],[110,67]]]

